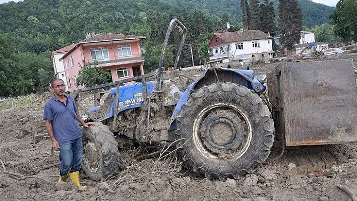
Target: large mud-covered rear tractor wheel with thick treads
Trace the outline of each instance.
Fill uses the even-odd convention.
[[[268,107],[246,87],[214,83],[182,106],[175,131],[183,160],[207,178],[237,179],[267,159],[274,141]]]

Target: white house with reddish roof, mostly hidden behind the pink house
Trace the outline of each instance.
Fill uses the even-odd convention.
[[[68,89],[67,76],[65,72],[65,66],[61,58],[75,45],[76,44],[71,44],[51,52],[51,61],[53,65],[54,77],[58,79],[62,79],[65,82],[66,89]]]

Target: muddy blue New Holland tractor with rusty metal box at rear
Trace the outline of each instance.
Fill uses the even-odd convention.
[[[187,29],[173,19],[156,74],[75,91],[78,100],[81,92],[116,86],[95,94],[96,106],[82,116],[96,122],[82,130],[82,168],[91,179],[105,180],[124,168],[120,150],[128,147],[152,152],[177,149],[193,171],[225,180],[256,171],[274,140],[286,146],[357,140],[351,60],[283,63],[262,79],[246,65],[242,70],[206,68],[199,79],[179,75],[179,83],[163,76],[173,28],[180,31],[182,41],[170,73],[184,72],[176,69]],[[124,85],[132,81],[137,82]]]

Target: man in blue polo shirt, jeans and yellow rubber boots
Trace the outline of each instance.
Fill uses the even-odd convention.
[[[54,95],[45,103],[43,119],[46,120],[46,130],[52,141],[52,147],[59,151],[61,170],[60,181],[67,180],[67,173],[71,181],[80,190],[87,189],[79,182],[79,171],[83,157],[82,129],[93,125],[93,122],[85,123],[78,114],[77,107],[72,96],[65,95],[66,86],[63,80],[54,79],[51,83],[51,91]]]

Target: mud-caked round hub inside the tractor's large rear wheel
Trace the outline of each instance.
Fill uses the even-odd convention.
[[[203,109],[194,122],[194,142],[202,153],[225,158],[243,155],[252,139],[248,118],[234,105],[218,103]]]

